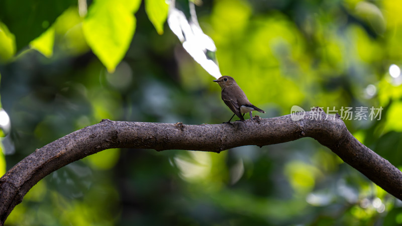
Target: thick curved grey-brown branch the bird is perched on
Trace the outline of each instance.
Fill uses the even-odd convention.
[[[315,118],[316,119],[311,119]],[[327,118],[328,117],[328,118]],[[402,200],[402,172],[357,141],[339,117],[320,108],[291,115],[235,122],[183,125],[103,120],[60,138],[23,159],[0,178],[0,225],[39,180],[85,156],[110,148],[221,152],[244,145],[264,146],[312,137],[393,196]]]

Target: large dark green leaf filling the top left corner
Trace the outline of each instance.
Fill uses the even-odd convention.
[[[2,0],[0,21],[16,36],[17,51],[45,32],[76,0]]]

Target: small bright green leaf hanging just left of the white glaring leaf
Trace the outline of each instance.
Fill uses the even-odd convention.
[[[166,21],[169,5],[165,0],[145,0],[145,12],[159,35],[163,34],[163,24]]]

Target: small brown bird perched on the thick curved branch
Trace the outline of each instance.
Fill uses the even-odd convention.
[[[230,123],[235,115],[239,117],[241,121],[244,121],[243,116],[247,112],[250,112],[250,119],[253,120],[253,110],[265,113],[265,111],[250,103],[246,94],[244,94],[243,90],[232,77],[225,75],[214,80],[214,82],[217,82],[221,86],[222,99],[234,113],[227,123]]]

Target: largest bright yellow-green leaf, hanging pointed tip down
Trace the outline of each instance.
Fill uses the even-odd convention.
[[[125,56],[135,31],[135,9],[124,2],[95,1],[82,24],[86,42],[109,72]]]

